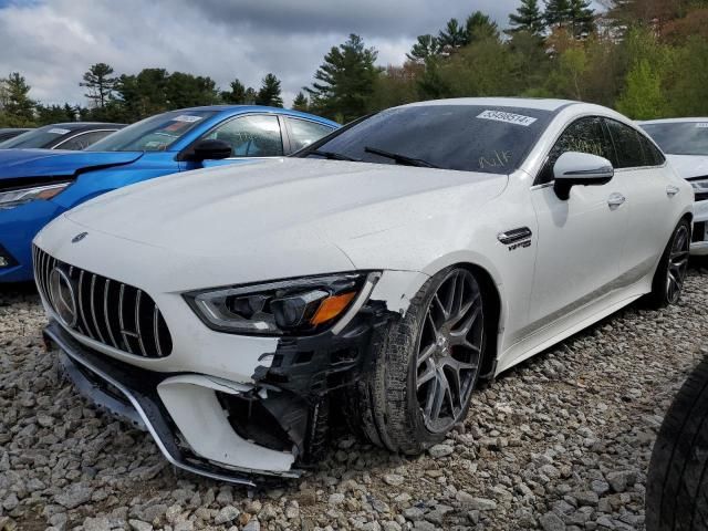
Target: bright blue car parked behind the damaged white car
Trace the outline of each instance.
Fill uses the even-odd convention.
[[[31,280],[32,239],[80,202],[163,175],[289,155],[337,127],[296,111],[216,105],[152,116],[83,152],[0,150],[0,282]]]

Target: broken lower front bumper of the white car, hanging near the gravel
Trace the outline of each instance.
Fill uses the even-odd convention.
[[[254,487],[253,475],[296,478],[293,451],[242,438],[222,400],[248,395],[249,386],[194,374],[163,374],[103,356],[80,344],[55,322],[44,340],[76,387],[102,408],[145,428],[175,467],[215,480]]]

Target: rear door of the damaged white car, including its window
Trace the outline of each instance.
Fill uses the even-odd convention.
[[[652,272],[664,251],[674,228],[670,201],[676,186],[667,178],[664,156],[642,133],[611,118],[605,118],[605,124],[616,153],[614,180],[627,190],[629,221],[623,280],[628,284]]]

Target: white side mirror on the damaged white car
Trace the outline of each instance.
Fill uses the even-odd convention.
[[[573,186],[602,186],[615,176],[612,163],[589,153],[568,152],[553,166],[553,189],[559,199],[566,200]]]

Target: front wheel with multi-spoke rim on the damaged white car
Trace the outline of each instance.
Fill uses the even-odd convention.
[[[417,455],[465,419],[483,361],[483,308],[467,269],[447,268],[423,285],[405,316],[373,342],[373,369],[350,399],[360,433]]]

